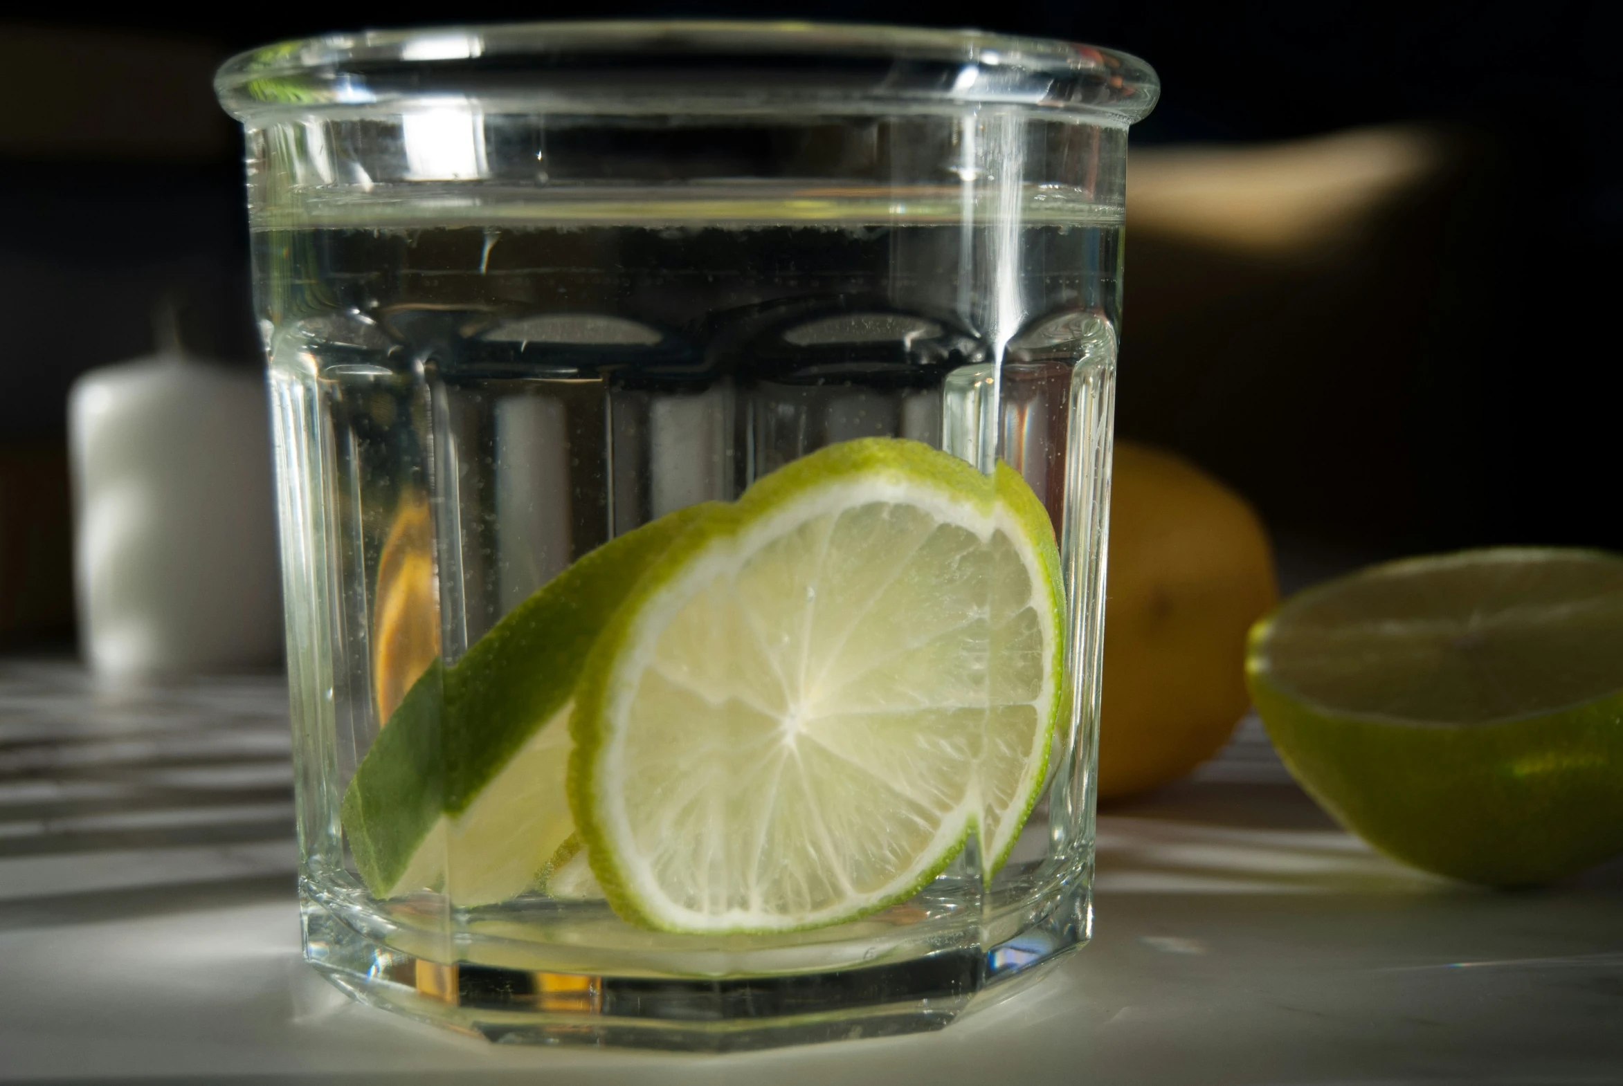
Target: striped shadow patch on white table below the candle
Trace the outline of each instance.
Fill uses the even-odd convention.
[[[0,661],[0,927],[291,906],[295,867],[279,678],[107,687]]]

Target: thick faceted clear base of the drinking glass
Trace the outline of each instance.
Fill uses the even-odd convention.
[[[899,963],[732,979],[534,973],[445,964],[381,943],[302,895],[305,958],[351,997],[503,1044],[735,1052],[941,1029],[1048,973],[1087,942],[1086,883],[1011,938],[966,932]]]

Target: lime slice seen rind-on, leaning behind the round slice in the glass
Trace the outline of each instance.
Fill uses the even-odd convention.
[[[586,655],[643,571],[712,507],[586,554],[407,691],[344,793],[344,830],[373,895],[443,887],[474,906],[529,888],[575,832],[565,721]]]

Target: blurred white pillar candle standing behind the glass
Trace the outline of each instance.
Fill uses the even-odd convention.
[[[81,376],[68,400],[80,643],[99,674],[281,653],[265,383],[180,353]]]

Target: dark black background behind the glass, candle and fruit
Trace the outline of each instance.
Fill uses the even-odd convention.
[[[1441,165],[1310,258],[1130,203],[1125,436],[1188,454],[1326,567],[1487,543],[1623,548],[1617,5],[23,5],[0,24],[0,637],[68,631],[65,397],[151,350],[256,365],[229,52],[364,26],[612,16],[982,26],[1149,60],[1134,148],[1407,125]],[[450,16],[450,18],[446,18]]]

